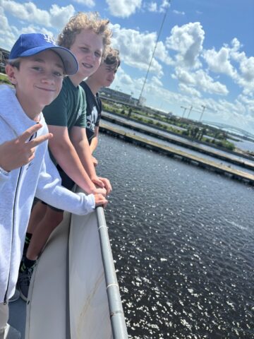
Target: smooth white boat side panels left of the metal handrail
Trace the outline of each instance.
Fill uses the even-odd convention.
[[[95,212],[65,213],[52,233],[32,275],[25,338],[112,338]]]

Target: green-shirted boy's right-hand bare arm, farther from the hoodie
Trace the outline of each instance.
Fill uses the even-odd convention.
[[[80,161],[84,166],[87,174],[92,179],[92,182],[96,185],[101,186],[102,184],[105,186],[107,190],[107,194],[112,190],[109,179],[107,178],[99,178],[95,172],[95,166],[92,162],[92,155],[90,151],[90,146],[87,140],[85,128],[79,126],[73,126],[70,133],[71,142],[73,143],[75,150],[78,153]]]

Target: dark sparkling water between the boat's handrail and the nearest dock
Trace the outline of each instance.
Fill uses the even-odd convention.
[[[254,338],[254,189],[100,135],[130,338]]]

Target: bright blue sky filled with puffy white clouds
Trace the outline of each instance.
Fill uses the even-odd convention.
[[[122,61],[111,88],[139,98],[152,60],[145,105],[254,133],[254,0],[0,0],[0,47],[56,38],[78,11],[110,20]]]

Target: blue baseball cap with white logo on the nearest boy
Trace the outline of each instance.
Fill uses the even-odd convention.
[[[52,49],[59,55],[68,76],[77,73],[78,61],[75,59],[75,56],[67,48],[58,46],[52,37],[49,37],[47,34],[21,34],[11,49],[9,59],[30,57],[47,49]]]

